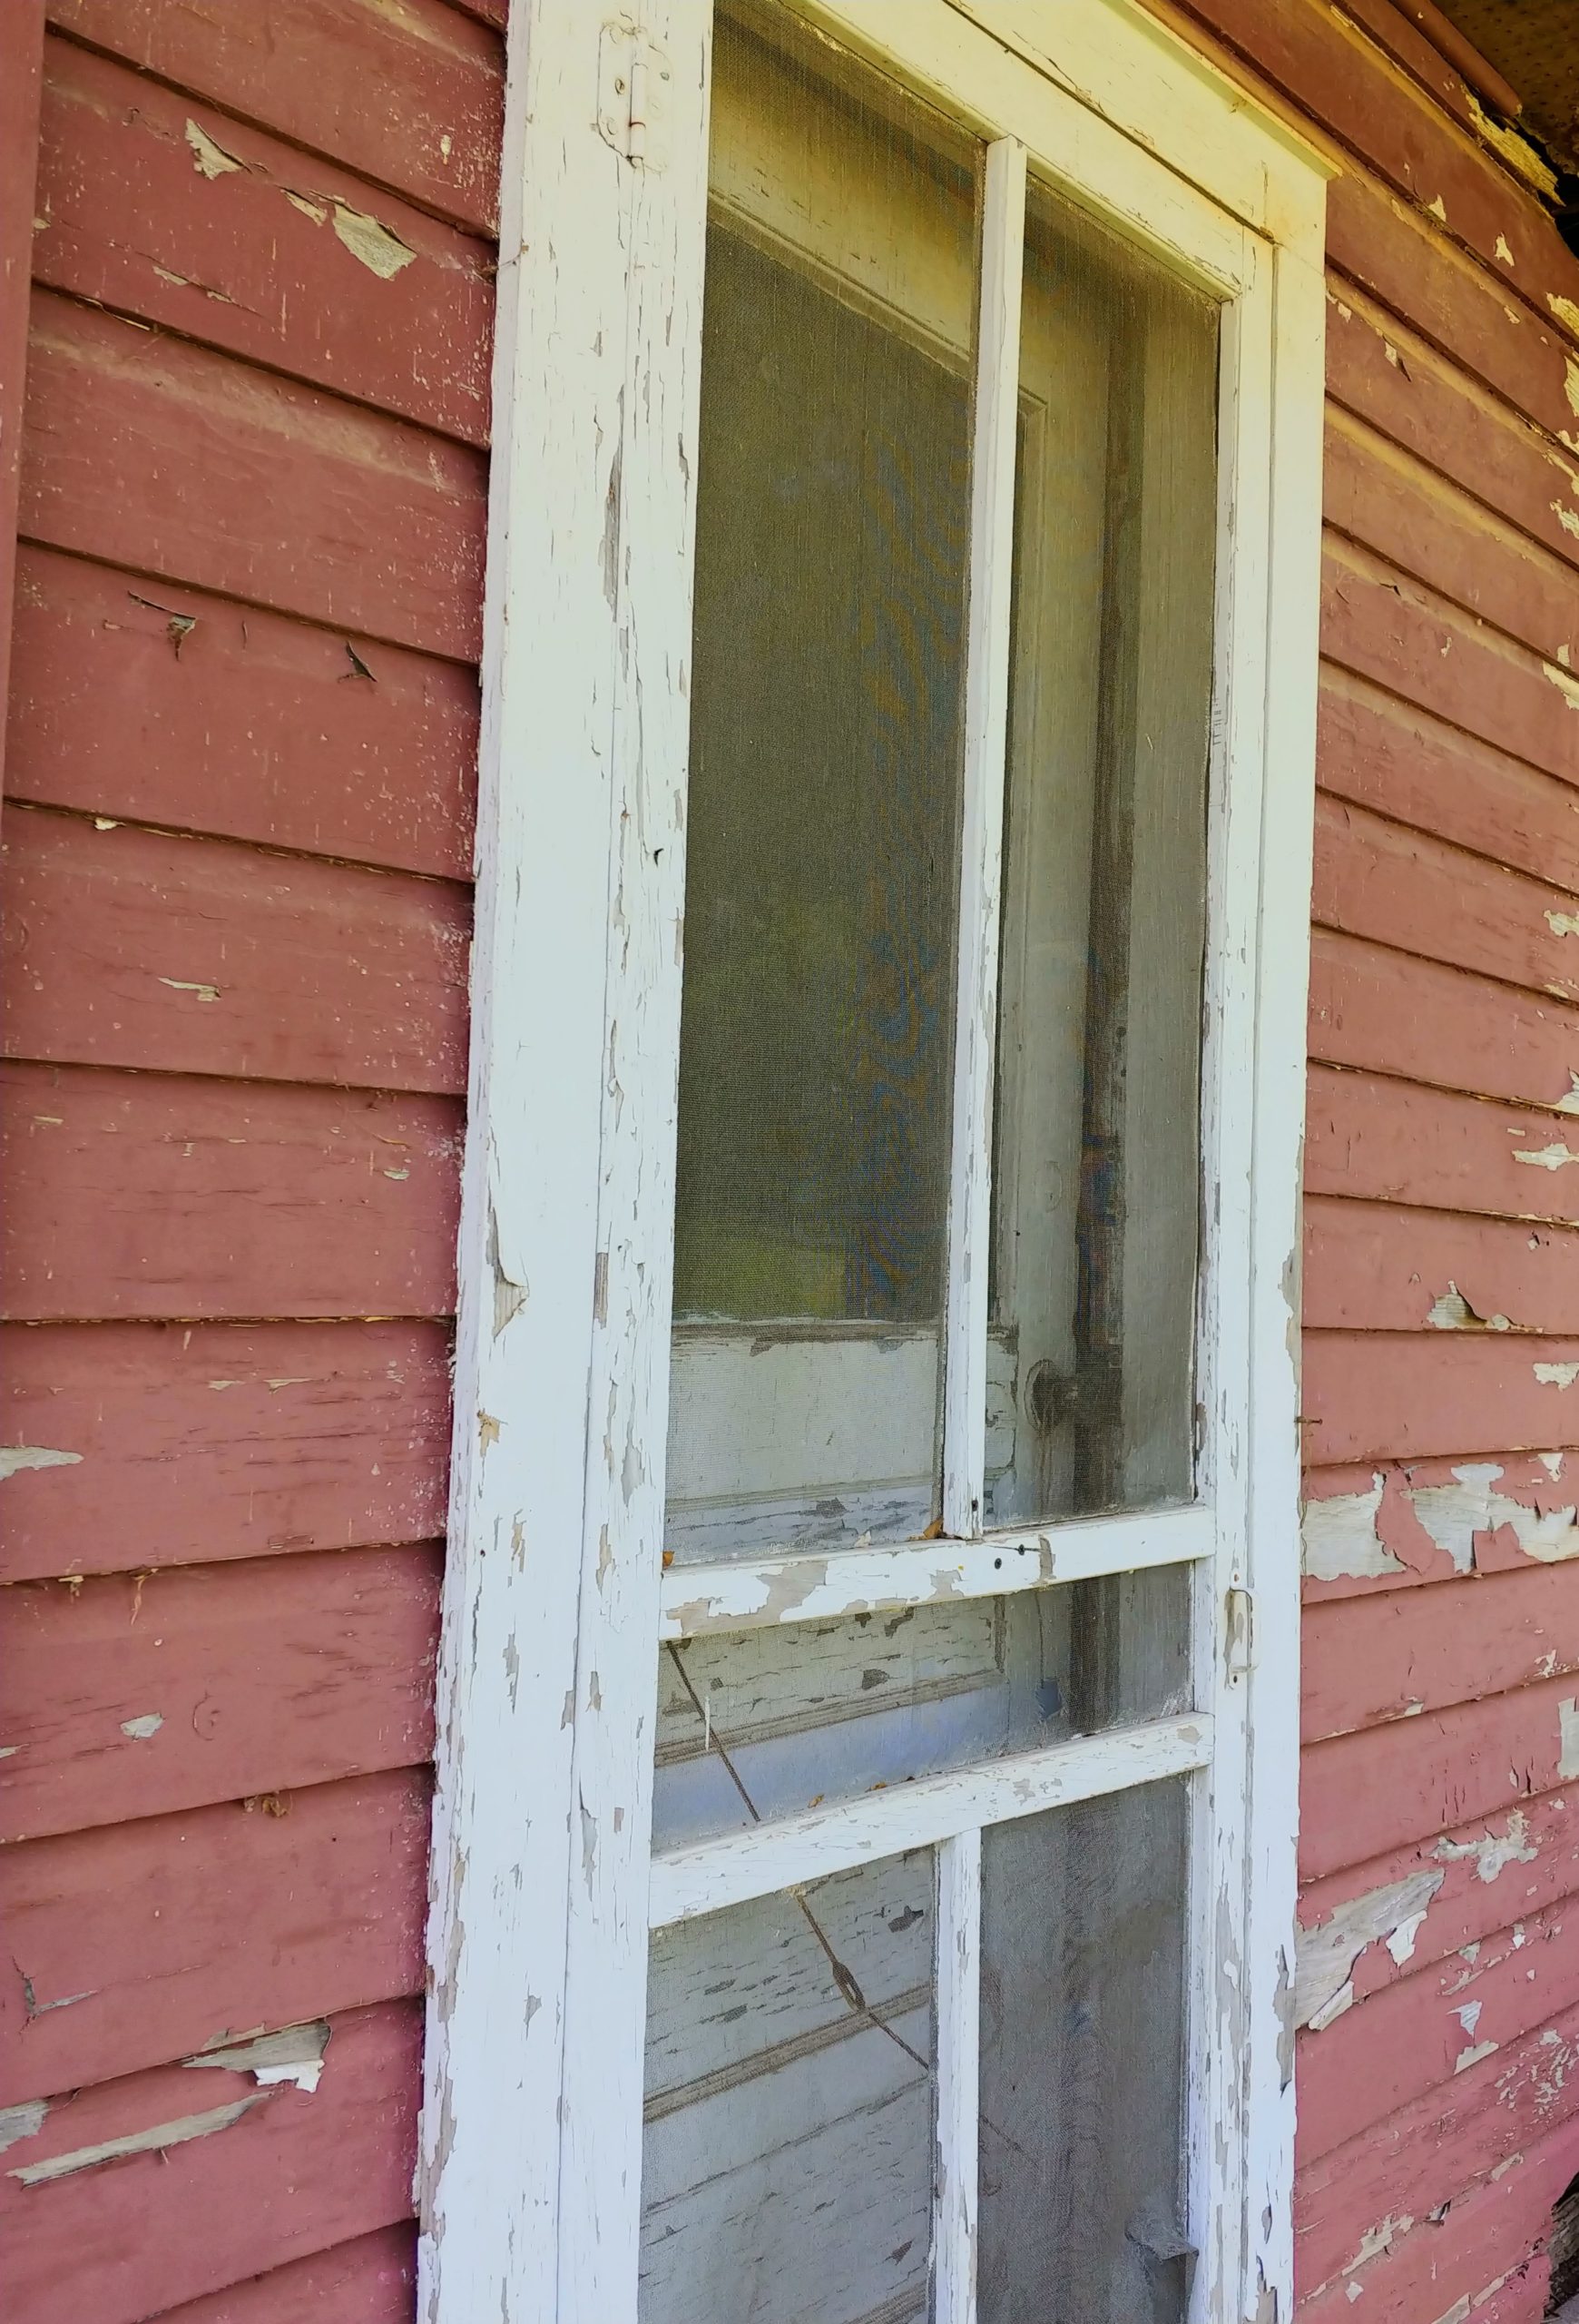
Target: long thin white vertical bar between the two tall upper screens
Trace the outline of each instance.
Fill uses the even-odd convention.
[[[992,1076],[998,1037],[998,906],[1008,762],[1019,281],[1026,149],[987,146],[982,290],[971,456],[971,609],[966,623],[964,813],[959,834],[959,983],[943,1350],[943,1532],[982,1532],[987,1464],[987,1281],[992,1255]]]

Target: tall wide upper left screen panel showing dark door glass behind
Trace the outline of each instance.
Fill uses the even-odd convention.
[[[671,1548],[927,1527],[938,1478],[973,153],[720,23]]]

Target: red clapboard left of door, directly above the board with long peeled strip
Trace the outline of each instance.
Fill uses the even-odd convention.
[[[420,1992],[425,1873],[416,1769],[0,1850],[0,2106]]]

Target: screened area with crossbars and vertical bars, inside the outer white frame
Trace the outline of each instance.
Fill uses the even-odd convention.
[[[1210,1534],[1050,1571],[1194,1501],[1217,379],[1017,142],[720,12],[650,2324],[1187,2317]]]

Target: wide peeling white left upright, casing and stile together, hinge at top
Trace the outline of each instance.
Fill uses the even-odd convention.
[[[427,2324],[636,2308],[708,28],[648,9],[646,165],[597,14],[509,28]]]

